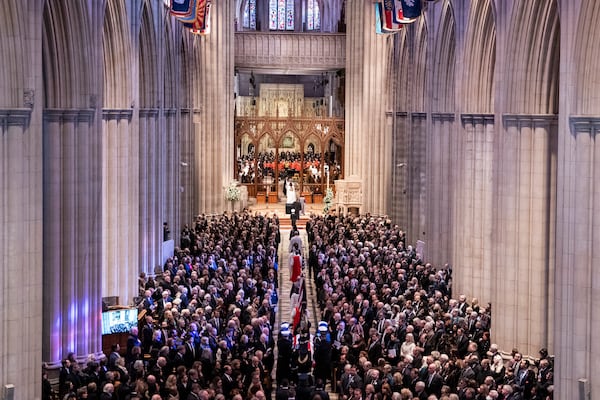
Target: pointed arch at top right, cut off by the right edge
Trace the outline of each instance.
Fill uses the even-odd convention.
[[[575,65],[577,66],[576,114],[598,114],[600,103],[600,69],[596,67],[600,58],[600,3],[583,0],[575,39]]]

